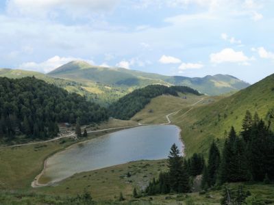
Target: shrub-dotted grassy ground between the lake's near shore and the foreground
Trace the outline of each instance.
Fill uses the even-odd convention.
[[[122,191],[129,200],[134,187],[137,190],[145,189],[153,177],[166,169],[165,160],[134,161],[75,174],[59,182],[58,186],[40,187],[35,191],[49,195],[77,195],[86,189],[95,200],[113,200]]]

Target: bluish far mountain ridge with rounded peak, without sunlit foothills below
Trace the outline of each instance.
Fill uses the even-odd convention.
[[[145,87],[151,84],[186,85],[208,95],[236,92],[249,86],[248,83],[227,74],[208,75],[203,78],[164,76],[125,68],[91,66],[85,61],[71,61],[48,74],[51,77],[81,82],[100,82],[116,87]]]

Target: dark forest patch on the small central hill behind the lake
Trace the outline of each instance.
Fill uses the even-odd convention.
[[[110,105],[110,115],[121,120],[129,120],[143,109],[150,102],[151,98],[162,94],[178,96],[177,92],[200,95],[197,90],[186,86],[148,85],[147,87],[134,90],[134,92],[123,96]]]

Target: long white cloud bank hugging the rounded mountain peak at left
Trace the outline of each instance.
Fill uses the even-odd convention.
[[[51,70],[54,70],[55,68],[58,68],[64,64],[69,63],[69,61],[75,61],[75,60],[84,60],[76,57],[59,57],[58,55],[55,55],[54,57],[51,57],[50,59],[47,59],[46,61],[42,61],[40,63],[36,63],[34,61],[26,62],[18,66],[18,68],[23,70],[34,70],[38,72],[51,72]],[[92,60],[84,60],[88,61],[90,64],[94,64]]]

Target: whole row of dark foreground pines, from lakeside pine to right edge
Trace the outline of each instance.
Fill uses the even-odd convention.
[[[260,119],[247,111],[242,131],[237,135],[232,126],[222,152],[213,141],[206,163],[201,154],[190,159],[179,155],[175,144],[169,153],[169,171],[160,173],[149,183],[147,195],[159,193],[188,193],[191,178],[202,174],[201,187],[208,189],[225,182],[270,182],[274,180],[274,133],[271,121]],[[239,188],[240,189],[240,188]]]

